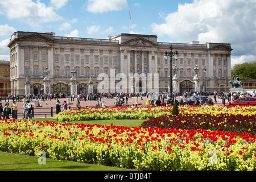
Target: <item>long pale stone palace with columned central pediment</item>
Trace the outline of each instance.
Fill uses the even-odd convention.
[[[164,59],[165,52],[177,51],[179,58]],[[102,83],[98,76],[105,73],[114,77],[109,92],[115,92],[113,85],[120,80],[117,75],[156,75],[159,92],[167,91],[172,77],[179,77],[179,92],[195,92],[197,75],[200,90],[228,90],[231,79],[231,45],[229,43],[158,42],[156,35],[119,34],[107,39],[72,38],[56,36],[53,32],[14,32],[10,43],[11,94],[44,93],[44,78],[50,81],[51,94],[65,93],[70,96],[71,80],[76,77],[77,94],[98,92]],[[170,69],[172,68],[172,72]],[[112,79],[113,80],[113,79]],[[128,81],[130,82],[130,81]],[[130,85],[122,88],[130,88]],[[93,90],[88,89],[93,85]],[[144,81],[133,82],[141,92]],[[153,85],[154,86],[154,82]],[[148,85],[146,85],[148,88]],[[135,89],[136,90],[136,89]],[[108,90],[105,90],[106,92]],[[127,92],[134,90],[127,89]]]

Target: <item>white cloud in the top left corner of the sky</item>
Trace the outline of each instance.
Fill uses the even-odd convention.
[[[53,7],[47,7],[40,0],[0,0],[0,8],[9,19],[19,19],[32,27],[40,26],[40,23],[53,22],[62,19],[53,11]]]

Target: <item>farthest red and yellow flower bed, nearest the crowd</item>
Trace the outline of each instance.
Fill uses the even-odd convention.
[[[180,106],[181,114],[256,114],[256,106]],[[83,107],[80,110],[72,109],[54,115],[56,121],[72,122],[72,121],[89,121],[104,119],[151,119],[165,114],[172,113],[172,106],[165,107]]]

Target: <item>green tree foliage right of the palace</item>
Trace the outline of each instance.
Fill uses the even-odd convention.
[[[252,63],[243,63],[234,65],[231,70],[231,77],[238,77],[240,79],[254,79],[256,80],[256,61]]]

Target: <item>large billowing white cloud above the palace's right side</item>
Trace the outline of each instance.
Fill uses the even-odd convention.
[[[162,24],[152,23],[152,31],[179,42],[230,43],[232,55],[255,55],[255,0],[197,0],[179,4]],[[163,15],[163,14],[162,14]]]

